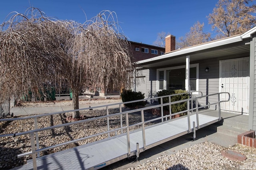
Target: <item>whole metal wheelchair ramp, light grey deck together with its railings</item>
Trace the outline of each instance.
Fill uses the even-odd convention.
[[[191,93],[191,92],[187,92]],[[228,94],[228,93],[226,93]],[[178,94],[174,94],[178,95]],[[205,106],[198,106],[198,98],[206,98],[208,96],[217,95],[219,101],[213,104],[208,104]],[[173,95],[167,96],[171,97]],[[191,95],[192,96],[192,95]],[[228,94],[230,99],[230,94]],[[156,97],[156,98],[163,98],[166,96]],[[152,100],[155,98],[145,99],[145,100]],[[229,99],[227,101],[229,101]],[[162,99],[161,99],[162,100]],[[138,102],[140,100],[137,100]],[[142,100],[143,101],[143,100]],[[196,107],[190,106],[192,104],[192,101],[195,101]],[[134,102],[134,101],[133,101]],[[171,106],[172,104],[177,104],[180,102],[186,102],[187,103],[187,109],[184,111],[180,111],[178,113],[172,113],[163,115],[163,107],[164,106]],[[129,102],[119,103],[119,104],[108,104],[106,106],[107,114],[100,117],[94,117],[90,119],[85,119],[77,122],[70,122],[65,123],[61,125],[55,125],[50,127],[45,127],[42,129],[37,129],[37,126],[35,126],[35,129],[32,131],[26,131],[22,133],[16,133],[16,134],[6,134],[6,135],[0,135],[0,137],[6,137],[6,136],[21,136],[21,135],[27,135],[30,134],[30,140],[31,140],[31,152],[19,154],[18,157],[23,157],[29,154],[32,154],[33,159],[28,161],[27,164],[14,168],[15,170],[29,170],[29,169],[42,169],[42,170],[56,170],[56,169],[76,169],[76,170],[96,170],[99,168],[103,168],[104,166],[107,166],[109,164],[112,164],[114,162],[117,162],[119,160],[122,160],[124,158],[128,158],[130,156],[138,156],[140,152],[143,152],[147,149],[150,149],[152,147],[155,147],[157,145],[160,145],[162,143],[165,143],[167,141],[170,141],[172,139],[175,139],[177,137],[180,137],[182,135],[185,135],[187,133],[194,133],[194,138],[196,135],[196,130],[200,129],[202,127],[205,127],[207,125],[210,125],[212,123],[216,123],[217,121],[220,121],[221,118],[221,112],[220,112],[220,103],[226,102],[226,101],[220,101],[220,93],[217,94],[211,94],[206,96],[199,96],[199,97],[190,97],[186,100],[180,100],[176,102],[168,102],[166,104],[158,104],[154,106],[149,107],[143,107],[140,109],[134,109],[134,110],[127,110],[122,112],[121,105]],[[114,114],[108,114],[108,107],[112,105],[119,105],[119,113]],[[210,111],[208,113],[199,113],[200,109],[205,109],[207,106],[210,105],[219,105],[218,110]],[[102,106],[100,106],[102,107]],[[150,120],[144,119],[144,111],[147,111],[149,109],[158,108],[161,110],[160,117],[153,118]],[[170,107],[169,107],[170,108]],[[96,107],[88,107],[84,109],[96,109]],[[82,110],[82,109],[80,109]],[[46,115],[52,115],[52,114],[60,114],[65,113],[69,111],[63,111],[58,113],[48,113]],[[171,113],[171,112],[170,112]],[[186,115],[172,119],[174,115],[180,115],[181,113],[185,113]],[[137,114],[140,115],[141,121],[139,123],[135,123],[130,125],[129,124],[129,114]],[[37,115],[43,116],[43,115]],[[33,116],[35,119],[35,125],[37,123],[37,116]],[[110,117],[116,117],[120,116],[120,127],[117,129],[111,129],[110,128]],[[31,117],[30,117],[31,118]],[[124,119],[123,119],[124,118]],[[23,118],[22,118],[23,119]],[[68,141],[65,143],[61,143],[58,145],[50,146],[50,147],[44,147],[39,148],[38,145],[40,141],[38,139],[38,132],[46,131],[49,129],[54,129],[58,127],[64,127],[69,125],[78,125],[78,123],[86,123],[88,121],[95,121],[99,119],[107,119],[107,130],[94,134],[91,136],[83,137],[80,139],[76,139],[73,141]],[[3,119],[4,120],[4,119]],[[11,119],[8,119],[9,121]],[[124,121],[125,120],[125,121]],[[153,121],[160,121],[160,123],[156,123],[153,125],[145,126],[146,123],[150,123]],[[123,125],[124,123],[124,125]],[[134,131],[130,131],[130,127],[132,126],[139,126],[140,128]],[[115,133],[116,131],[121,131],[121,134],[110,136],[110,133]],[[35,134],[35,135],[34,135]],[[81,145],[78,147],[74,147],[72,149],[63,150],[60,152],[56,152],[53,154],[48,154],[41,157],[39,156],[39,152],[49,150],[55,147],[60,147],[63,145],[67,145],[70,143],[75,143],[77,141],[82,141],[85,139],[90,139],[92,137],[96,137],[98,135],[106,135],[108,134],[108,138],[102,139],[100,141],[95,141],[92,143],[88,143],[86,145]],[[36,139],[36,140],[35,140]],[[43,142],[43,141],[41,141]],[[37,148],[36,148],[37,147]]]

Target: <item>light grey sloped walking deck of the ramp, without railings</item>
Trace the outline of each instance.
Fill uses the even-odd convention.
[[[200,129],[218,121],[219,117],[213,117],[203,114],[198,114]],[[196,122],[196,115],[190,116],[191,127],[193,121]],[[197,124],[197,123],[196,123]],[[178,118],[173,121],[167,121],[153,127],[145,129],[146,149],[150,149],[182,135],[188,133],[187,117]],[[193,128],[190,129],[193,131]],[[139,144],[140,152],[144,151],[142,131],[134,131],[130,133],[130,156],[136,155],[136,144]],[[38,169],[56,170],[56,169],[76,169],[96,170],[103,168],[109,164],[128,158],[127,154],[127,136],[121,135],[100,142],[90,143],[84,146],[78,146],[72,149],[60,151],[50,155],[36,158]],[[17,167],[17,170],[33,169],[33,162],[30,161],[22,167]]]

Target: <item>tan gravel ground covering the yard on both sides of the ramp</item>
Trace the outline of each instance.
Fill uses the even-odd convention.
[[[111,99],[110,99],[111,100]],[[110,100],[104,100],[104,102],[109,103]],[[116,100],[115,100],[116,101]],[[80,101],[80,104],[83,101]],[[84,102],[88,102],[84,101]],[[90,101],[93,102],[93,101]],[[94,102],[100,102],[100,100],[95,100]],[[103,101],[101,101],[103,102]],[[53,102],[44,104],[22,104],[26,107],[39,107],[39,106],[50,106]],[[68,105],[72,102],[55,102],[55,104]],[[54,105],[55,105],[54,104]],[[116,113],[117,110],[110,109],[110,114]],[[52,125],[58,125],[67,123],[66,117],[71,116],[72,113],[58,114],[46,117],[38,118],[38,128],[49,127]],[[106,115],[105,110],[92,110],[83,111],[80,115],[90,118],[97,117],[100,115]],[[125,119],[125,117],[123,117]],[[140,121],[140,117],[130,115],[129,120],[132,123]],[[112,117],[110,119],[110,129],[115,129],[120,122],[120,117]],[[136,129],[134,127],[130,130]],[[0,135],[6,133],[19,133],[22,131],[28,131],[34,129],[34,120],[26,119],[12,122],[0,122]],[[86,130],[85,130],[86,129]],[[39,133],[40,147],[48,147],[51,145],[56,145],[58,143],[63,143],[65,141],[70,141],[74,139],[79,139],[84,136],[93,135],[95,133],[100,133],[106,131],[106,119],[101,119],[99,121],[90,121],[89,123],[80,123],[79,125],[71,125],[69,127],[57,128],[54,130],[44,131]],[[120,134],[120,131],[117,131]],[[114,135],[111,134],[112,136]],[[63,147],[58,147],[55,149],[48,150],[47,152],[41,152],[40,155],[50,154],[53,152],[58,152],[60,150],[72,148],[78,145],[84,145],[92,141],[97,141],[106,138],[106,135],[94,137],[85,141],[79,141],[70,145]],[[16,158],[17,154],[29,152],[30,151],[30,136],[24,135],[20,137],[3,137],[0,139],[0,169],[8,170],[14,168],[15,166],[20,166],[26,164],[27,160],[31,159],[32,156],[24,156],[22,158]],[[244,161],[232,161],[228,158],[222,156],[222,150],[234,150],[240,152],[246,156]],[[166,153],[164,153],[166,154]],[[130,170],[218,170],[218,169],[256,169],[256,149],[251,147],[246,147],[237,144],[233,147],[224,148],[219,145],[215,145],[210,142],[204,142],[198,145],[194,145],[190,148],[180,150],[175,154],[165,155],[157,158],[157,160],[148,160],[145,164],[140,164],[134,168],[129,168]]]

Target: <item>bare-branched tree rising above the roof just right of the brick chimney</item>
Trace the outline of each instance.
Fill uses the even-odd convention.
[[[204,23],[197,21],[193,27],[190,27],[190,32],[186,33],[185,37],[179,38],[180,42],[177,43],[177,47],[185,48],[210,41],[210,33],[204,33],[203,29]]]

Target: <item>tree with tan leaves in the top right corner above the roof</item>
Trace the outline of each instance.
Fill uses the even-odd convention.
[[[217,39],[244,33],[255,26],[256,4],[254,0],[219,0],[208,21],[216,29]]]

